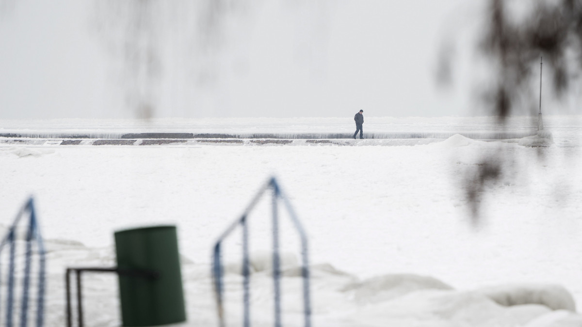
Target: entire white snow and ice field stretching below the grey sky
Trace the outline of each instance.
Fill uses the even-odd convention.
[[[350,119],[278,120],[276,127],[268,119],[164,120],[131,129],[111,121],[0,121],[0,133],[353,132]],[[518,120],[508,128],[535,126]],[[366,118],[364,131],[492,130],[492,122]],[[308,233],[314,326],[582,326],[582,117],[545,116],[544,125],[554,141],[547,147],[460,135],[413,146],[1,144],[0,223],[4,231],[34,194],[49,250],[47,326],[65,325],[66,267],[114,266],[115,230],[175,224],[188,312],[182,325],[217,326],[211,248],[276,176]],[[486,161],[501,176],[480,189],[470,181]],[[273,325],[269,201],[250,216],[253,326]],[[281,230],[283,325],[302,326],[297,235],[290,223]],[[242,326],[240,249],[234,234],[224,257],[228,326]],[[87,326],[120,325],[115,276],[87,273],[83,290]]]

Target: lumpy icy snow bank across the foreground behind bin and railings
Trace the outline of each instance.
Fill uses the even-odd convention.
[[[47,325],[65,324],[63,273],[65,266],[111,266],[112,247],[91,248],[77,241],[47,240],[48,304]],[[300,265],[297,258],[282,253],[288,267],[282,273],[283,325],[303,326]],[[251,278],[251,320],[256,326],[272,326],[271,253],[251,254],[255,271]],[[225,315],[227,326],[242,322],[242,276],[225,275]],[[239,267],[240,268],[240,267]],[[311,271],[312,319],[314,326],[399,326],[399,327],[569,327],[581,326],[582,316],[572,311],[552,311],[567,307],[567,292],[552,285],[496,286],[477,291],[454,290],[438,279],[413,274],[382,275],[358,280],[331,264],[316,264]],[[182,263],[188,321],[180,326],[217,325],[217,311],[210,264]],[[87,305],[86,322],[94,326],[119,326],[117,282],[114,275],[84,276]],[[56,292],[59,291],[59,292]],[[504,294],[505,303],[499,304]],[[537,294],[527,296],[523,294]],[[526,298],[526,300],[521,300]],[[534,300],[527,300],[534,298]],[[562,299],[561,301],[559,299]],[[563,300],[563,299],[566,299]],[[571,299],[570,299],[571,300]],[[538,304],[527,304],[538,303]],[[544,305],[542,305],[544,304]]]

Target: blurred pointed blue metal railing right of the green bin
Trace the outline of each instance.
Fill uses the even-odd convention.
[[[214,278],[214,290],[217,297],[218,319],[221,327],[225,326],[225,316],[223,307],[223,270],[221,261],[222,241],[226,239],[239,225],[243,231],[243,305],[244,305],[244,327],[250,326],[250,260],[249,260],[249,229],[247,226],[248,217],[257,202],[268,190],[273,191],[272,197],[272,223],[273,223],[273,282],[274,282],[274,300],[275,300],[275,327],[281,327],[281,258],[279,256],[279,209],[278,201],[282,200],[283,206],[289,212],[293,226],[299,233],[301,240],[301,276],[303,278],[303,314],[304,326],[311,327],[311,301],[309,286],[309,262],[307,257],[307,236],[303,226],[299,222],[297,215],[293,211],[288,198],[286,198],[276,182],[271,178],[267,184],[261,187],[257,195],[253,198],[249,207],[244,211],[241,218],[237,219],[224,233],[219,237],[214,245],[214,254],[212,258],[212,277]]]

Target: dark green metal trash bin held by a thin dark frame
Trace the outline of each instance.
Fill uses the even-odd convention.
[[[186,321],[176,226],[121,230],[115,247],[123,326]],[[147,271],[159,276],[144,276]]]

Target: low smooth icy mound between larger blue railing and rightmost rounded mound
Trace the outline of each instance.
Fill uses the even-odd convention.
[[[354,290],[354,298],[360,303],[378,303],[426,289],[452,290],[453,287],[432,277],[402,273],[370,278],[348,285],[345,290]]]

